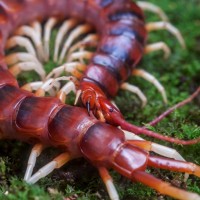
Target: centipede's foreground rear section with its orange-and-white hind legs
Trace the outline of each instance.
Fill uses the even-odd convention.
[[[0,84],[0,136],[1,139],[34,141],[24,178],[28,183],[35,183],[69,160],[83,156],[98,168],[113,200],[119,197],[107,171],[109,168],[162,194],[178,199],[200,199],[197,194],[175,188],[144,172],[147,166],[153,166],[200,177],[199,166],[150,156],[149,151],[164,153],[167,157],[172,157],[175,152],[139,137],[125,141],[122,130],[89,116],[85,109],[67,106],[57,98],[35,97],[19,89],[9,73],[4,75],[7,75],[3,78],[4,83]],[[37,156],[48,146],[60,148],[63,153],[32,175]],[[180,159],[179,154],[176,156]]]

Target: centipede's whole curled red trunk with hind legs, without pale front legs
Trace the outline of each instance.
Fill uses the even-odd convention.
[[[53,163],[46,166],[52,170],[61,167],[69,158],[85,157],[98,168],[113,200],[118,200],[119,197],[109,178],[109,168],[174,198],[200,199],[197,194],[174,188],[144,172],[148,166],[154,166],[200,176],[199,166],[151,156],[151,142],[126,141],[122,130],[97,120],[93,115],[89,116],[84,108],[67,106],[53,97],[36,97],[20,89],[5,64],[5,43],[16,27],[36,19],[42,21],[50,16],[60,19],[84,19],[96,27],[100,42],[80,83],[80,87],[88,87],[83,90],[82,99],[86,98],[86,102],[88,101],[87,95],[90,97],[92,88],[99,91],[97,97],[100,99],[104,98],[101,91],[104,88],[107,88],[107,95],[114,96],[121,82],[129,76],[132,67],[139,62],[143,54],[146,31],[143,14],[136,4],[129,0],[10,0],[0,1],[0,11],[0,138],[62,149],[64,156],[57,157]],[[107,79],[102,80],[105,76]],[[96,88],[96,84],[99,88]],[[110,110],[107,100],[104,100],[102,107],[114,117],[118,114],[117,110]],[[109,117],[108,114],[108,119]],[[110,121],[112,122],[112,119]],[[117,116],[113,124],[118,123]],[[127,126],[122,120],[123,124],[127,129],[134,127]],[[158,137],[158,134],[152,131],[135,129],[139,133]],[[178,144],[199,142],[199,139],[186,142],[164,136],[158,138]],[[47,173],[46,168],[39,174],[43,171]],[[34,183],[42,178],[39,174],[28,177],[27,182]]]

